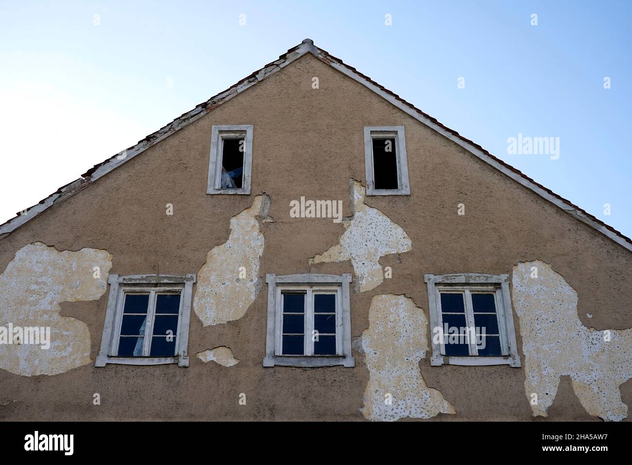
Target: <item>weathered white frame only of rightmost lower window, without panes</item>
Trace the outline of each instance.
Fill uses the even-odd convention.
[[[428,286],[428,307],[430,309],[430,338],[432,340],[432,357],[430,365],[502,365],[520,367],[518,344],[511,309],[509,294],[509,275],[483,275],[479,273],[456,273],[451,275],[424,275]],[[441,292],[455,292],[464,295],[466,325],[475,326],[471,294],[477,292],[494,294],[494,303],[498,316],[502,356],[478,356],[476,341],[470,338],[469,356],[447,356],[444,341],[437,343],[435,328],[443,328],[441,313]]]

